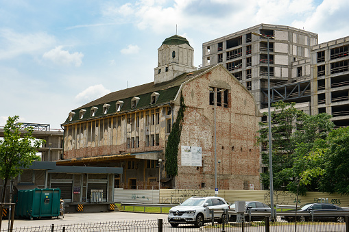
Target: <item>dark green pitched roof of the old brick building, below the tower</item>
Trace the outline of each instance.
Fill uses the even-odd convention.
[[[204,73],[204,71],[208,70],[208,68],[202,68],[200,70],[196,70],[191,73],[184,73],[171,81],[166,81],[163,83],[157,83],[154,82],[145,83],[141,86],[134,86],[132,88],[127,88],[125,90],[119,90],[116,92],[111,92],[110,94],[106,94],[105,96],[102,96],[99,99],[96,99],[95,101],[91,101],[90,103],[87,103],[85,105],[82,105],[81,107],[78,107],[77,109],[73,109],[72,112],[74,112],[74,116],[72,120],[67,120],[62,125],[68,125],[70,123],[76,123],[78,121],[84,121],[89,120],[90,118],[99,118],[102,116],[111,116],[114,114],[123,114],[125,112],[130,112],[132,110],[139,110],[139,109],[147,109],[151,107],[156,107],[158,105],[165,105],[169,103],[170,101],[173,101],[176,98],[176,95],[178,93],[178,90],[180,89],[180,85],[184,81],[188,81],[192,77],[195,77],[197,75],[200,75],[201,73]],[[151,104],[151,95],[153,92],[158,92],[158,100],[155,104]],[[131,107],[131,101],[134,96],[139,97],[139,103],[137,104],[136,108]],[[117,101],[123,101],[123,105],[121,107],[120,112],[117,112],[116,109],[116,103]],[[109,104],[110,107],[108,109],[107,114],[103,114],[103,105]],[[91,107],[97,107],[97,111],[95,112],[95,116],[91,117]],[[80,109],[86,109],[86,113],[84,114],[83,118],[79,118],[80,116]]]

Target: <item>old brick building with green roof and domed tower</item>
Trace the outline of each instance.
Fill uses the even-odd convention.
[[[172,177],[165,171],[165,150],[181,99],[186,107],[178,175]],[[213,189],[216,121],[217,187],[243,190],[253,184],[258,190],[259,116],[252,94],[224,66],[197,70],[189,42],[171,36],[158,49],[154,82],[112,92],[69,113],[62,124],[64,157],[57,164],[123,167],[115,188]]]

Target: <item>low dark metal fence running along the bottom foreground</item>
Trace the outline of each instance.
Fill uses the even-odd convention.
[[[1,230],[5,232],[6,230]],[[40,227],[14,228],[13,231],[28,232],[55,232],[55,231],[210,231],[210,232],[328,232],[328,231],[349,231],[348,216],[346,222],[269,222],[269,217],[256,222],[228,222],[226,224],[206,223],[204,227],[196,228],[191,224],[180,224],[178,227],[171,227],[166,220],[136,220],[119,222],[98,222],[82,224],[51,224]]]

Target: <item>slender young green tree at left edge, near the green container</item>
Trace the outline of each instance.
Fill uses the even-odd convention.
[[[3,179],[1,202],[5,201],[6,185],[8,180],[17,177],[38,159],[36,149],[44,140],[36,140],[32,136],[33,129],[25,129],[21,134],[20,123],[16,123],[19,116],[8,117],[3,128],[3,140],[0,140],[0,178]]]

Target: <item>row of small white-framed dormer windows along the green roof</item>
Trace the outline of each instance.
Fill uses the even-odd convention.
[[[150,104],[156,104],[156,101],[158,101],[158,97],[160,96],[160,94],[158,92],[153,92],[152,95],[150,96]],[[131,108],[136,108],[138,103],[139,103],[140,98],[138,96],[134,96],[131,100]],[[116,112],[120,112],[121,108],[123,107],[123,101],[117,101],[117,103],[115,103],[116,106]],[[107,114],[108,110],[110,108],[110,104],[104,104],[103,105],[103,111],[102,114]],[[91,117],[94,117],[96,115],[98,107],[91,107]],[[84,115],[86,114],[86,109],[80,109],[79,112],[79,119],[84,118]],[[69,120],[73,120],[73,117],[75,116],[75,112],[70,112],[69,113]]]

